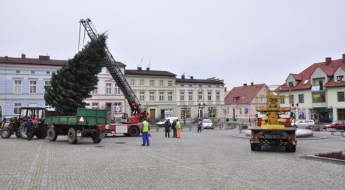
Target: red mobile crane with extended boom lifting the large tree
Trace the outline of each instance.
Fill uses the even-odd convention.
[[[98,37],[97,30],[95,29],[95,26],[92,24],[90,18],[87,19],[81,19],[80,24],[85,27],[85,31],[87,32],[87,35],[90,37],[90,39],[96,39]],[[121,72],[119,65],[117,65],[114,57],[111,55],[108,47],[105,47],[105,50],[107,52],[107,63],[105,63],[107,69],[109,70],[109,73],[114,78],[116,84],[119,86],[121,91],[123,92],[123,95],[125,96],[126,100],[128,101],[128,104],[131,108],[131,115],[126,117],[126,122],[123,124],[110,124],[106,126],[101,126],[100,128],[108,131],[111,134],[117,134],[117,133],[123,133],[128,134],[130,136],[136,136],[140,134],[140,121],[143,120],[147,116],[146,110],[140,109],[140,101],[135,96],[133,89],[128,84],[126,78],[124,77],[123,73]],[[126,114],[123,114],[126,115]]]

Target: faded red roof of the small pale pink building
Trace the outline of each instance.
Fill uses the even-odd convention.
[[[234,103],[250,103],[255,98],[256,88],[266,87],[266,84],[253,84],[247,85],[243,87],[234,87],[231,89],[229,94],[225,97],[224,103],[225,104],[234,104]],[[259,89],[258,89],[259,90]],[[234,101],[234,97],[238,99]]]

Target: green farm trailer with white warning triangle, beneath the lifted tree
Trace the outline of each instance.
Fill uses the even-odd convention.
[[[58,135],[67,135],[70,144],[76,144],[84,137],[91,137],[94,143],[99,143],[104,134],[98,126],[107,125],[107,110],[78,108],[75,116],[46,117],[44,123],[49,126],[49,141],[56,141]]]

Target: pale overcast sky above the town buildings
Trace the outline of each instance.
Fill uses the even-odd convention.
[[[341,58],[344,8],[342,0],[6,0],[0,56],[73,58],[79,20],[90,18],[127,69],[150,61],[151,70],[177,77],[217,77],[228,90],[283,84],[289,73]]]

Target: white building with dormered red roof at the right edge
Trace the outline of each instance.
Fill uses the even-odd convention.
[[[287,99],[291,89],[291,106],[299,119],[345,120],[344,75],[345,54],[337,60],[327,57],[298,74],[291,73],[282,84],[281,95]],[[289,101],[281,99],[284,104],[289,106]]]

